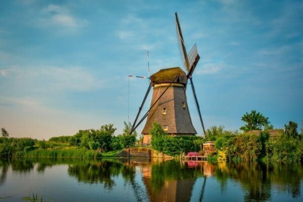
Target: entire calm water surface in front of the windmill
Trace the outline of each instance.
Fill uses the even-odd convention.
[[[2,201],[303,201],[302,187],[300,164],[0,160]]]

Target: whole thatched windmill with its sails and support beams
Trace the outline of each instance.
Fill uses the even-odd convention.
[[[190,52],[187,54],[177,13],[175,13],[175,16],[179,52],[183,68],[187,73],[179,67],[173,67],[162,69],[149,77],[151,82],[149,83],[142,104],[139,107],[139,111],[130,130],[131,134],[147,117],[145,126],[141,132],[144,135],[144,143],[150,143],[151,141],[149,130],[152,127],[153,122],[160,123],[163,130],[170,135],[196,134],[187,107],[186,86],[188,79],[190,80],[195,106],[205,134],[205,128],[192,81],[192,74],[200,57],[197,52],[196,44],[193,45]],[[151,87],[153,87],[153,96],[151,98],[150,108],[138,121],[138,117]]]

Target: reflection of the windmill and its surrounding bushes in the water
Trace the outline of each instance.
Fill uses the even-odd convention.
[[[189,201],[197,177],[204,177],[200,200],[203,198],[206,178],[214,173],[215,166],[208,162],[169,161],[142,167],[142,180],[150,201]],[[177,169],[176,169],[177,168]]]

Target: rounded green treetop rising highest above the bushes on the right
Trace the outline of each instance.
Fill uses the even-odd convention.
[[[256,110],[251,110],[250,114],[246,112],[241,120],[247,123],[240,128],[245,132],[248,130],[262,130],[262,127],[270,124],[268,117],[264,117],[260,112],[257,113]]]

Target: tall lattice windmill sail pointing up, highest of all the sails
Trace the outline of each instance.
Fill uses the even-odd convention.
[[[189,66],[186,47],[185,47],[185,43],[184,43],[177,12],[175,13],[175,16],[176,16],[176,32],[177,32],[179,53],[180,53],[180,57],[181,57],[181,61],[182,61],[182,65],[183,65],[184,69],[187,70],[187,72],[189,72],[190,66]]]

